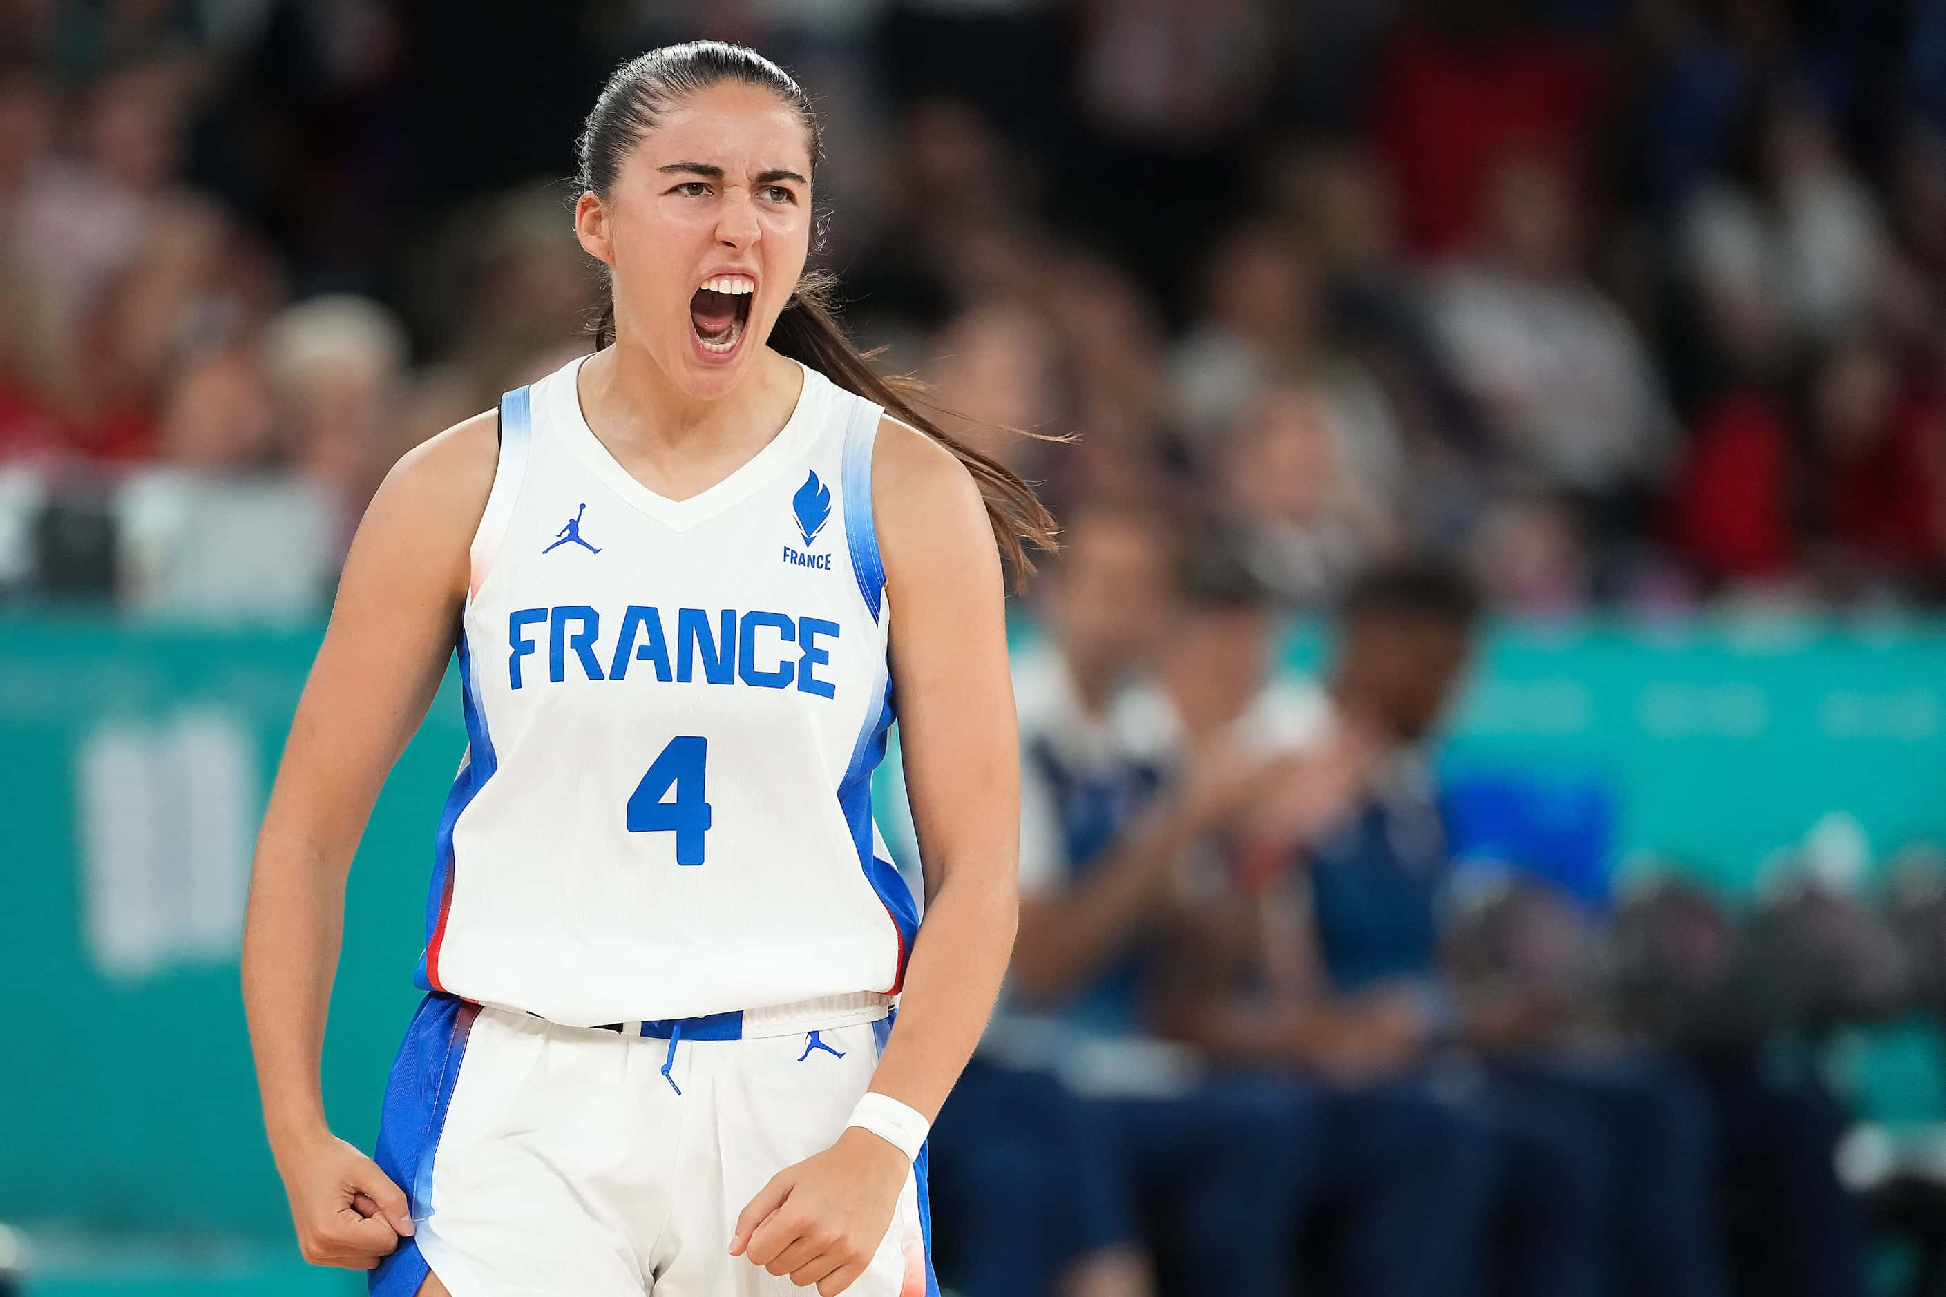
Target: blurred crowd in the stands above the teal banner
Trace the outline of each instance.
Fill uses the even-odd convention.
[[[1057,513],[1222,521],[1286,607],[1424,546],[1537,616],[1934,601],[1940,31],[1940,0],[6,0],[0,589],[315,599],[405,447],[588,344],[578,119],[623,56],[720,35],[827,119],[847,323]]]

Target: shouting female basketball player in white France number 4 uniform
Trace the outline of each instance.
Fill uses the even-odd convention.
[[[381,1297],[936,1291],[922,1141],[1014,939],[996,548],[1051,519],[819,305],[817,154],[745,49],[625,64],[574,212],[613,342],[401,459],[346,558],[243,980],[304,1254]],[[455,644],[372,1161],[317,1077],[344,877]],[[893,704],[922,931],[870,811]]]

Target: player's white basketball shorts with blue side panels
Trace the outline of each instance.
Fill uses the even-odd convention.
[[[453,1297],[813,1291],[730,1256],[730,1235],[773,1174],[837,1141],[870,1085],[891,1019],[864,999],[611,1031],[426,996],[378,1138],[416,1233],[372,1272],[374,1297],[414,1297],[428,1268]],[[848,1293],[936,1297],[930,1235],[920,1153]]]

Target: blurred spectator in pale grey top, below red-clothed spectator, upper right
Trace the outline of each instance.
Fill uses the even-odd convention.
[[[1576,270],[1578,245],[1563,169],[1502,158],[1475,251],[1434,282],[1434,319],[1502,453],[1613,506],[1660,474],[1672,414],[1635,329]]]

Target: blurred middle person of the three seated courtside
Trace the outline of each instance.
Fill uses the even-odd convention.
[[[1378,749],[1360,727],[1327,735],[1323,694],[1273,679],[1279,618],[1236,544],[1212,537],[1191,546],[1183,585],[1146,702],[1150,725],[1189,778],[1210,762],[1255,778],[1236,780],[1247,801],[1185,848],[1183,920],[1152,972],[1158,1021],[1222,1066],[1302,1077],[1308,1233],[1327,1221],[1323,1258],[1308,1270],[1331,1270],[1335,1291],[1465,1293],[1489,1145],[1438,1085],[1405,1075],[1419,1050],[1417,998],[1294,1007],[1288,968],[1265,959],[1265,933],[1282,916],[1261,906],[1251,883],[1236,889],[1224,877],[1224,846],[1261,838],[1273,819],[1306,832],[1333,821]]]

